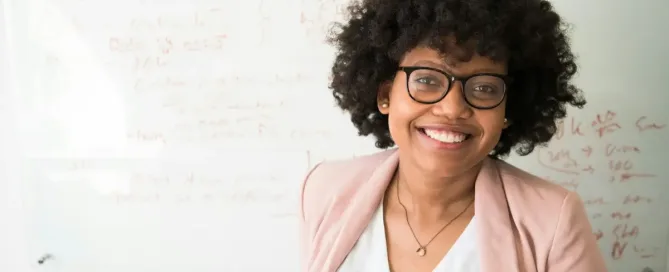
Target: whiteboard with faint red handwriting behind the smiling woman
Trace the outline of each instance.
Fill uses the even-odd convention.
[[[6,2],[34,269],[297,271],[305,171],[375,151],[327,89],[344,0]],[[509,160],[583,197],[611,271],[666,271],[669,3],[556,5],[590,103]]]

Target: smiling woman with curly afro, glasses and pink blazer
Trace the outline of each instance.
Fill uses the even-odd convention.
[[[574,56],[540,0],[351,4],[331,89],[390,149],[323,162],[301,198],[304,270],[606,271],[583,204],[500,159],[548,142]]]

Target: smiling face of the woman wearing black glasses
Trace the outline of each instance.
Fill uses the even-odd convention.
[[[447,63],[444,57],[448,58],[436,50],[419,47],[409,51],[400,66],[430,67],[456,77],[480,73],[506,74],[505,63],[496,63],[479,55],[474,55],[467,62]],[[445,86],[438,81],[433,81],[429,74],[413,72],[409,85],[413,96],[420,99],[423,95],[427,98],[429,93],[414,91],[418,88],[437,90]],[[454,81],[442,100],[422,104],[414,101],[407,91],[407,73],[398,71],[392,84],[380,88],[378,105],[381,113],[388,114],[390,134],[400,156],[410,159],[423,171],[441,177],[455,177],[479,165],[497,145],[502,130],[507,126],[504,121],[506,99],[491,109],[477,109],[467,100],[478,101],[479,104],[486,101],[492,103],[495,90],[491,86],[494,84],[500,83],[490,80],[484,80],[482,84],[468,83],[466,89],[470,90],[465,97],[464,86]]]

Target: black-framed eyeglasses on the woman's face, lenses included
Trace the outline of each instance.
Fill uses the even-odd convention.
[[[446,72],[422,66],[400,66],[407,77],[407,92],[411,99],[422,104],[434,104],[446,97],[453,83],[460,81],[465,102],[476,109],[492,109],[504,101],[507,82],[502,74],[480,73],[456,77]]]

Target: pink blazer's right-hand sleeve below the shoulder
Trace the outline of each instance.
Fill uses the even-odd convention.
[[[546,267],[547,272],[608,271],[585,206],[574,192],[569,192],[562,203]]]

